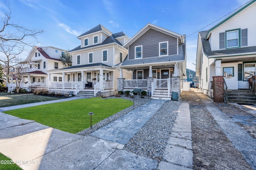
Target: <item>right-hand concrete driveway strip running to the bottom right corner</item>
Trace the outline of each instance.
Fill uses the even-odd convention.
[[[245,160],[256,170],[256,140],[252,138],[244,129],[237,125],[230,117],[222,113],[218,107],[216,107],[212,99],[209,99],[205,94],[196,93],[202,102],[204,102],[206,109],[210,111],[214,119],[220,125],[220,128],[225,133],[230,141],[232,141],[234,147],[238,149]]]

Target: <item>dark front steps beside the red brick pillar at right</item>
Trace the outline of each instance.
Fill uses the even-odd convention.
[[[224,95],[226,95],[226,93]],[[254,94],[252,90],[228,90],[227,102],[256,104],[256,94]]]

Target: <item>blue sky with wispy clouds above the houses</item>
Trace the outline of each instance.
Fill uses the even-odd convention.
[[[12,22],[26,28],[46,31],[38,35],[39,43],[35,45],[65,50],[80,45],[76,37],[99,24],[112,33],[124,31],[131,38],[147,23],[153,23],[170,31],[186,34],[187,68],[195,70],[192,63],[196,63],[198,30],[208,30],[227,17],[222,18],[223,16],[248,1],[0,0],[0,17],[8,12],[8,6],[4,3],[8,2],[12,10]],[[214,23],[209,25],[212,22]],[[30,50],[31,47],[28,51]],[[23,55],[24,58],[27,57],[27,53]]]

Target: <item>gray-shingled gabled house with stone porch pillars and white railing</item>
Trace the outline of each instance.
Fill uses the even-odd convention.
[[[120,72],[119,90],[142,88],[152,98],[170,100],[182,91],[186,76],[186,36],[148,23],[124,44],[128,57],[116,68],[132,71],[132,80]]]

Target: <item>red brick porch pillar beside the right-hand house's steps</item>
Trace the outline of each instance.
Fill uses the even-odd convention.
[[[224,78],[223,76],[213,76],[213,101],[224,102]]]

